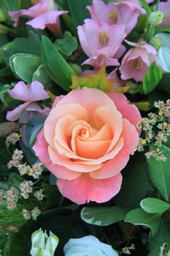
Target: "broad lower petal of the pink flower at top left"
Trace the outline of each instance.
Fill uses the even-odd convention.
[[[36,16],[34,19],[26,22],[34,29],[45,29],[49,24],[58,23],[58,16],[67,13],[67,11],[49,11]]]

